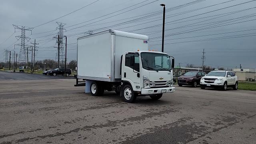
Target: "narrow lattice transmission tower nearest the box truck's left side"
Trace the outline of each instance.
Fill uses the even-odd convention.
[[[58,27],[56,28],[56,30],[59,30],[58,32],[58,36],[54,36],[56,40],[56,43],[58,44],[58,50],[56,52],[56,57],[55,57],[55,61],[58,62],[58,68],[63,67],[64,66],[64,62],[65,62],[65,50],[64,50],[64,46],[63,46],[63,30],[64,30],[64,23],[61,22],[57,22]]]

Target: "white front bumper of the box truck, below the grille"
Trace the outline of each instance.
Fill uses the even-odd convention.
[[[166,88],[142,88],[141,94],[162,94],[162,93],[168,93],[168,92],[175,92],[174,87],[166,87]]]

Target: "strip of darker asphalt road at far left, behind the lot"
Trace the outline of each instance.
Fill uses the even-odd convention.
[[[47,80],[65,78],[63,76],[45,76],[43,74],[28,74],[22,72],[2,72],[0,71],[0,80]],[[67,77],[74,78],[73,76]],[[66,79],[66,78],[65,78]]]

